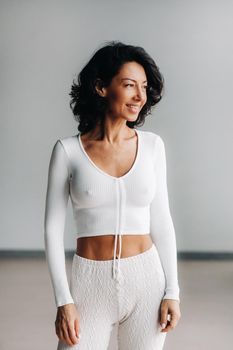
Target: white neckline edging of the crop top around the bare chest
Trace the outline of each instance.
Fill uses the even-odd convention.
[[[136,164],[137,164],[137,162],[138,162],[138,158],[139,158],[139,154],[140,154],[140,148],[141,148],[141,139],[140,139],[140,136],[141,136],[141,135],[140,135],[140,130],[137,130],[137,129],[135,129],[135,128],[134,128],[134,130],[135,130],[135,133],[136,133],[136,135],[137,135],[137,153],[136,153],[136,158],[135,158],[135,160],[134,160],[134,162],[133,162],[133,165],[132,165],[131,168],[127,171],[127,173],[125,173],[125,174],[122,175],[122,176],[118,176],[118,177],[117,177],[117,176],[110,175],[110,174],[106,173],[104,170],[102,170],[101,168],[99,168],[99,167],[93,162],[93,160],[89,157],[89,155],[87,154],[87,152],[85,151],[84,146],[83,146],[83,144],[82,144],[82,140],[81,140],[81,133],[78,133],[77,138],[78,138],[78,141],[79,141],[80,148],[81,148],[81,150],[83,151],[85,157],[86,157],[87,160],[90,162],[90,164],[91,164],[92,166],[94,166],[95,169],[97,169],[100,173],[102,173],[103,175],[105,175],[105,176],[107,176],[107,177],[109,177],[109,178],[111,178],[111,179],[122,180],[122,179],[126,178],[127,176],[129,176],[129,175],[133,172],[133,170],[135,169]]]

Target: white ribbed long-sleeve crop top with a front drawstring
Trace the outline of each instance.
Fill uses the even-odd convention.
[[[150,233],[165,274],[163,299],[180,301],[164,142],[154,132],[134,130],[138,136],[136,159],[121,177],[111,176],[96,166],[84,150],[80,133],[58,139],[53,146],[48,170],[44,242],[57,307],[74,303],[64,252],[69,198],[77,237],[115,235],[113,278],[120,268],[121,235]],[[115,266],[117,236],[120,239],[118,269]]]

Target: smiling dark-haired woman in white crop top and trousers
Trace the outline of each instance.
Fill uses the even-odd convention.
[[[145,50],[115,41],[73,81],[79,133],[53,147],[44,222],[58,350],[107,350],[115,324],[119,349],[159,350],[181,317],[164,142],[134,128],[162,90]],[[63,245],[69,197],[78,236],[70,289]]]

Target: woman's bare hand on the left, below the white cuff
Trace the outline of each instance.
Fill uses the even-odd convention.
[[[75,304],[66,304],[57,308],[55,321],[56,334],[58,338],[68,345],[79,342],[79,315]]]

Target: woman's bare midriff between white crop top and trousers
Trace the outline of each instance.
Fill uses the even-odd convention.
[[[151,248],[151,235],[121,235],[121,258],[141,254]],[[76,254],[92,260],[112,260],[114,258],[115,235],[80,237],[77,239]],[[119,254],[119,236],[117,237],[116,257]]]

